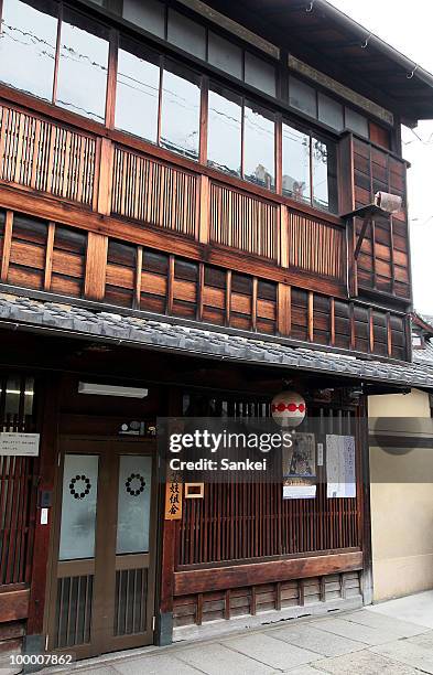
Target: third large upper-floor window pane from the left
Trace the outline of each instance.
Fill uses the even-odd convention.
[[[116,127],[152,142],[158,136],[159,57],[119,49]]]

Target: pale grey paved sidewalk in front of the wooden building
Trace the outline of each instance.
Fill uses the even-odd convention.
[[[54,668],[44,674],[59,672]],[[351,612],[281,621],[203,642],[77,663],[74,675],[433,674],[433,591]]]

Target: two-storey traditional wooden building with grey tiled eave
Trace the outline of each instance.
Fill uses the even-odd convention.
[[[324,0],[0,14],[0,443],[40,435],[0,456],[3,647],[370,602],[367,397],[432,387],[400,128],[433,77]],[[267,416],[284,382],[356,436],[356,496],[206,484],[165,519],[156,417]]]

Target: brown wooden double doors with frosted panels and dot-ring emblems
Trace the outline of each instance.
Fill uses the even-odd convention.
[[[62,439],[56,494],[47,649],[152,644],[154,441]]]

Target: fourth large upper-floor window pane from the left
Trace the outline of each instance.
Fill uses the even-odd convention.
[[[174,65],[164,68],[161,111],[161,146],[198,158],[199,77]]]

